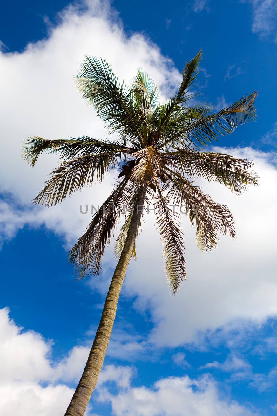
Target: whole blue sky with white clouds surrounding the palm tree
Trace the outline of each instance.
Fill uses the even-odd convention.
[[[260,186],[239,198],[200,183],[231,208],[238,238],[222,238],[214,252],[199,253],[194,230],[184,222],[187,280],[174,298],[147,216],[88,414],[277,414],[276,17],[276,0],[4,4],[2,414],[64,414],[115,267],[111,244],[100,276],[75,282],[66,252],[90,221],[80,204],[101,204],[116,172],[60,207],[36,208],[32,198],[57,161],[47,155],[29,168],[20,159],[22,140],[105,137],[73,86],[84,54],[105,57],[127,80],[145,67],[169,96],[184,63],[200,49],[199,100],[219,109],[259,91],[257,121],[213,146],[253,158]]]

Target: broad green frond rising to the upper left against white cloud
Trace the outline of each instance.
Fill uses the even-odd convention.
[[[85,57],[76,76],[76,86],[110,131],[137,137],[142,143],[139,120],[132,111],[130,88],[124,80],[120,82],[105,60]]]

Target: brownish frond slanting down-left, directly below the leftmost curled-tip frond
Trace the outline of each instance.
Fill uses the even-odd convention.
[[[114,164],[115,156],[111,151],[63,162],[51,173],[51,178],[33,202],[37,205],[56,205],[78,189],[92,185],[93,179],[101,182],[110,165]]]

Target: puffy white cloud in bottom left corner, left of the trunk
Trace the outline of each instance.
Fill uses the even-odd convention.
[[[64,381],[74,378],[72,374],[75,370],[79,376],[88,350],[85,357],[82,347],[76,347],[69,353],[67,360],[55,365],[51,360],[52,342],[37,332],[24,331],[18,327],[9,318],[8,308],[0,309],[0,332],[0,414],[64,414],[74,393],[74,389],[66,386]],[[56,384],[60,379],[60,383]],[[90,409],[91,406],[87,415],[90,414]]]

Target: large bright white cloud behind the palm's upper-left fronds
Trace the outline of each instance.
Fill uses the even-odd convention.
[[[145,67],[166,95],[181,79],[173,63],[150,40],[138,33],[125,35],[108,2],[76,3],[64,9],[59,18],[58,26],[48,27],[46,39],[27,45],[24,52],[0,52],[0,75],[5,79],[0,86],[3,103],[0,188],[16,201],[9,207],[2,206],[2,239],[11,238],[28,223],[45,224],[64,235],[67,242],[75,240],[90,218],[79,213],[79,204],[101,204],[117,176],[116,172],[112,173],[101,186],[76,193],[54,209],[32,211],[28,208],[47,175],[56,167],[57,158],[44,155],[34,169],[29,168],[20,159],[21,143],[26,137],[39,135],[54,139],[86,134],[103,139],[107,136],[93,109],[74,87],[73,75],[78,72],[84,55],[107,59],[127,83],[137,67]],[[19,204],[25,208],[24,212]]]

